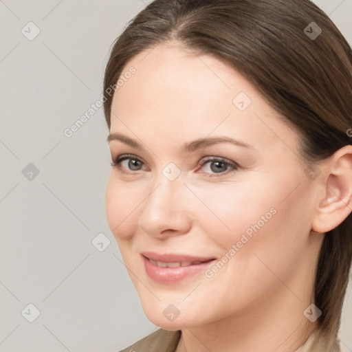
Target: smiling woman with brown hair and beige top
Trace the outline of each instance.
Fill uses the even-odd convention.
[[[124,351],[340,351],[351,63],[308,0],[155,0],[129,23],[107,219],[160,329]]]

